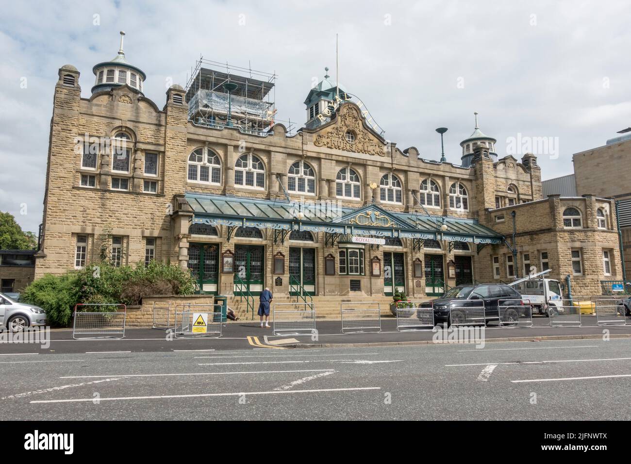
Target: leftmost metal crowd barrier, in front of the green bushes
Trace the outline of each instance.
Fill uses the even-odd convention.
[[[122,309],[122,311],[117,311]],[[79,303],[74,306],[73,338],[124,338],[127,306]],[[88,335],[88,336],[86,336]]]

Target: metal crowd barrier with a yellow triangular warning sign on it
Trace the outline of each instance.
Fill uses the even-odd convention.
[[[182,307],[182,311],[178,308]],[[220,304],[180,304],[175,307],[175,338],[221,336]]]

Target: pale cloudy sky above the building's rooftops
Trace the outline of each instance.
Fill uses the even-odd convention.
[[[631,125],[631,4],[626,1],[81,1],[9,2],[0,17],[0,210],[25,230],[42,221],[57,70],[112,59],[119,30],[129,62],[147,74],[146,97],[164,105],[206,59],[276,72],[279,119],[300,127],[310,86],[335,76],[362,98],[402,150],[440,158],[480,127],[512,141],[546,137],[543,179],[572,173],[572,154]],[[519,147],[517,147],[519,149]],[[70,154],[69,154],[70,155]],[[521,152],[515,154],[521,158]]]

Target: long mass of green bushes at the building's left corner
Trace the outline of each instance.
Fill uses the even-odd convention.
[[[191,274],[177,265],[151,261],[148,266],[139,263],[115,268],[103,261],[80,271],[45,275],[31,283],[21,298],[42,307],[50,324],[66,326],[77,303],[129,306],[140,304],[149,295],[186,295],[194,291]]]

